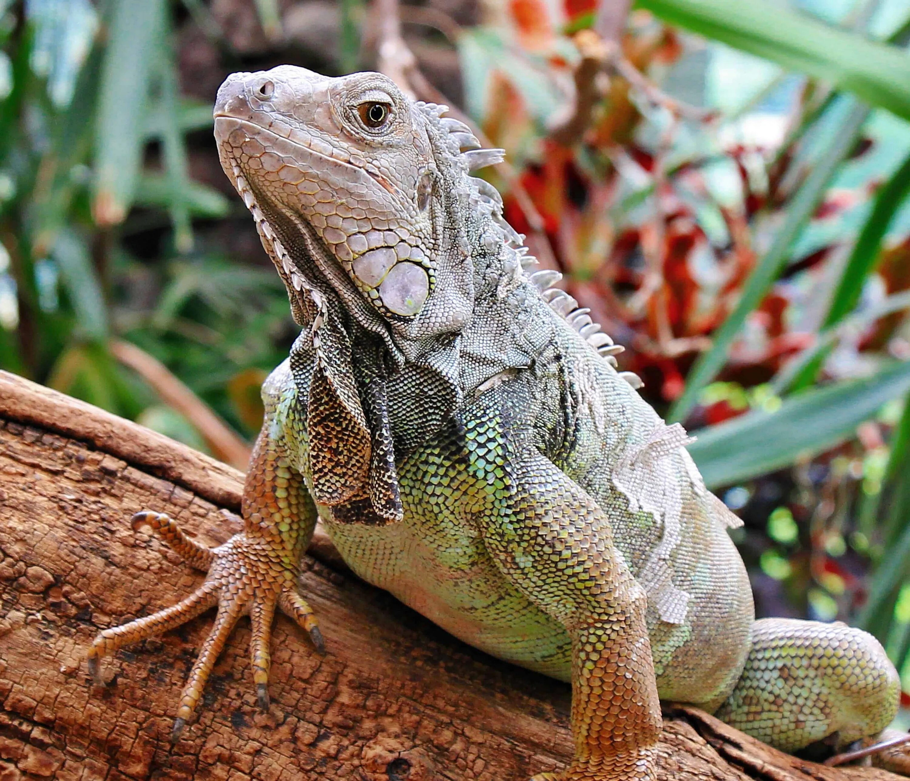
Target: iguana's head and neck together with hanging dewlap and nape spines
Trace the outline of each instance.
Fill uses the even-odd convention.
[[[544,301],[612,349],[587,309],[547,289],[559,273],[523,274],[536,261],[496,189],[470,176],[502,150],[447,110],[376,73],[279,66],[218,90],[221,164],[304,326],[291,369],[310,361],[312,492],[336,520],[400,520],[394,451],[528,367],[553,328]]]

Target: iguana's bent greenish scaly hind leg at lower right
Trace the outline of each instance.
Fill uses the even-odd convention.
[[[795,752],[878,735],[897,713],[900,681],[871,634],[845,624],[765,618],[716,716],[764,743]]]

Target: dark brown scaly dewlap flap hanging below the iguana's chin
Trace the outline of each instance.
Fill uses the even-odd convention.
[[[364,398],[351,364],[347,331],[331,308],[313,324],[317,364],[309,387],[307,429],[313,499],[338,508],[343,522],[400,521],[398,474],[381,378]],[[366,411],[364,411],[366,407]],[[352,505],[342,508],[341,505]]]

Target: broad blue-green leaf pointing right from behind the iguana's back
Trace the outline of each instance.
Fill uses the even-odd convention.
[[[849,439],[885,401],[907,391],[910,361],[893,363],[871,377],[785,399],[776,411],[755,410],[696,431],[689,452],[709,488],[748,480]]]

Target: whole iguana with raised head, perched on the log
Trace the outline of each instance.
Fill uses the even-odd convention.
[[[727,533],[739,521],[685,431],[616,370],[622,348],[559,275],[533,270],[499,193],[471,176],[502,150],[446,111],[375,73],[279,66],[220,87],[221,163],[301,330],[263,386],[245,531],[209,550],[139,513],[207,580],[99,634],[93,673],[217,605],[174,735],[241,614],[268,707],[276,609],[322,644],[298,593],[319,518],[364,580],[571,681],[574,759],[535,781],[652,778],[661,700],[787,751],[881,733],[900,694],[881,645],[844,624],[754,620]]]

